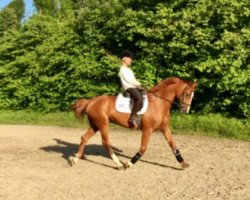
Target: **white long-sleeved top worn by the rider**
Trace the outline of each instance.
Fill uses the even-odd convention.
[[[124,90],[127,90],[128,88],[136,88],[141,85],[141,83],[136,80],[133,71],[124,65],[120,67],[119,77]]]

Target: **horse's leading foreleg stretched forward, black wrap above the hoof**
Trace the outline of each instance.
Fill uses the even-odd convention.
[[[184,161],[179,149],[177,148],[170,129],[167,128],[165,131],[163,131],[163,134],[164,134],[166,140],[168,141],[168,144],[171,147],[171,149],[175,155],[176,160],[181,164],[182,168],[189,167],[189,164]]]

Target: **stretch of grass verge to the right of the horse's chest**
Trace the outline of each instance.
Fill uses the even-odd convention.
[[[191,131],[194,135],[227,137],[250,141],[250,120],[228,118],[219,114],[173,115],[171,127],[174,131]]]

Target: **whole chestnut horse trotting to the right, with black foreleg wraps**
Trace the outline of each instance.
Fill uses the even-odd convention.
[[[131,128],[128,121],[129,114],[119,113],[115,109],[116,96],[98,96],[93,99],[77,100],[71,108],[75,111],[76,117],[82,117],[84,112],[89,120],[89,129],[81,137],[79,150],[74,157],[70,158],[72,165],[84,156],[84,147],[88,140],[97,132],[101,132],[102,144],[108,151],[110,157],[118,169],[126,169],[134,165],[145,153],[149,138],[156,130],[160,130],[169,143],[177,161],[183,168],[189,166],[178,150],[169,128],[170,108],[175,99],[179,102],[179,110],[188,113],[193,99],[196,82],[185,81],[179,78],[168,78],[160,81],[156,86],[147,92],[149,104],[147,111],[141,121],[141,146],[139,152],[128,162],[122,163],[112,150],[109,141],[109,122]]]

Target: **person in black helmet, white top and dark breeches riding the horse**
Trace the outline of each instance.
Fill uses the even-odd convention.
[[[131,124],[132,126],[136,126],[137,124],[135,117],[136,113],[142,107],[142,94],[139,91],[139,89],[141,88],[141,83],[138,80],[136,80],[135,75],[130,68],[132,63],[132,58],[133,55],[130,51],[125,50],[122,52],[121,55],[122,65],[120,67],[119,77],[123,89],[126,90],[134,99],[134,105],[130,117],[128,119],[128,123]]]

